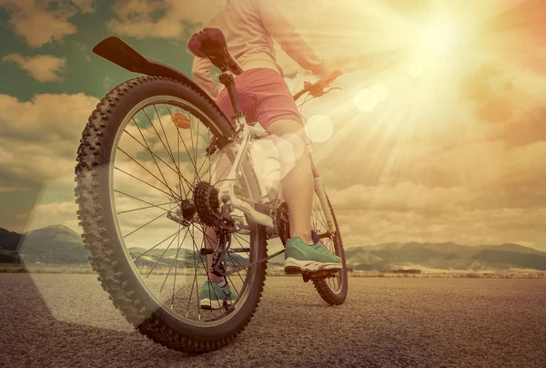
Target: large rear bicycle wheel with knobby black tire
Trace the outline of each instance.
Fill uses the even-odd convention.
[[[78,148],[77,213],[98,280],[128,322],[179,351],[202,353],[233,340],[263,291],[266,263],[252,262],[266,257],[266,234],[262,226],[246,223],[244,234],[232,234],[234,252],[226,257],[226,281],[237,301],[220,310],[199,306],[209,276],[200,251],[207,223],[196,207],[213,201],[197,200],[197,185],[218,186],[215,178],[222,174],[206,150],[213,139],[225,146],[232,134],[217,107],[191,87],[139,77],[101,100]],[[228,150],[217,155],[233,158]],[[236,189],[257,198],[249,165]]]

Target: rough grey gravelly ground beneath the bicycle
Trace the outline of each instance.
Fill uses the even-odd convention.
[[[546,281],[351,278],[339,307],[275,277],[247,330],[204,355],[134,331],[94,275],[0,274],[0,366],[546,367]]]

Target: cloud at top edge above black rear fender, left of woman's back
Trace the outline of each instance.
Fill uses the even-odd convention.
[[[182,39],[187,30],[206,25],[223,5],[225,0],[119,0],[117,19],[106,26],[121,36]]]

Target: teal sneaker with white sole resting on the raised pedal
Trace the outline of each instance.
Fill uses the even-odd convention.
[[[341,270],[341,259],[327,250],[320,241],[308,245],[298,237],[287,240],[285,251],[285,272]]]

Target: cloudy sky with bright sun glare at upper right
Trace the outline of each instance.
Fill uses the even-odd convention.
[[[281,0],[346,72],[303,115],[347,247],[514,242],[546,250],[546,9],[535,0]],[[222,0],[0,0],[0,227],[79,232],[76,149],[135,77],[118,36],[191,76],[187,38]],[[293,92],[314,77],[278,46]]]

